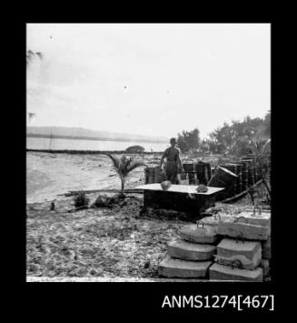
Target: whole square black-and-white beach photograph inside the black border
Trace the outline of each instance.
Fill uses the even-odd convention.
[[[26,282],[272,282],[271,27],[25,24]]]

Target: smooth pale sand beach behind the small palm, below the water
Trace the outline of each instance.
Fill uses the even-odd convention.
[[[137,159],[137,156],[135,156]],[[142,159],[150,162],[153,156]],[[27,202],[44,202],[60,198],[69,190],[120,188],[111,170],[112,162],[104,155],[48,154],[28,152],[26,155]],[[136,168],[127,187],[144,184],[144,167]]]

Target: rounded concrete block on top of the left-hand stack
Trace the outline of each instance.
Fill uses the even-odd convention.
[[[219,238],[213,226],[197,227],[196,225],[184,226],[181,237],[183,240],[201,244],[213,244]]]

